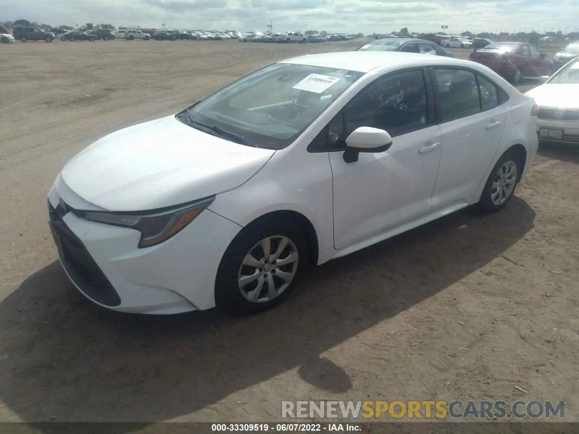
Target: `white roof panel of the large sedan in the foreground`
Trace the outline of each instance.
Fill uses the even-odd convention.
[[[471,68],[474,66],[474,62],[468,60],[400,52],[339,52],[306,54],[305,56],[285,59],[279,63],[347,69],[349,71],[364,73],[376,68],[395,70],[406,67],[423,67],[425,65],[464,65]]]

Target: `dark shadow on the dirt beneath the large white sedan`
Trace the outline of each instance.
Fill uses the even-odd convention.
[[[303,381],[346,392],[348,374],[320,354],[485,266],[531,230],[534,217],[518,197],[497,214],[456,212],[317,267],[283,305],[243,318],[104,310],[53,262],[0,303],[2,402],[29,422],[148,424],[296,367]]]

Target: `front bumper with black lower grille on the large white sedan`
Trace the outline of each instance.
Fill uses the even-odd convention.
[[[66,196],[66,194],[65,194]],[[139,231],[79,218],[48,195],[50,227],[63,268],[100,306],[142,314],[177,314],[215,306],[219,262],[241,227],[209,209],[162,244],[138,248]]]

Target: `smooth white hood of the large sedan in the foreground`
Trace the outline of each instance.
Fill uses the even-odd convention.
[[[109,134],[63,168],[65,184],[109,211],[169,207],[234,189],[275,153],[163,117]]]

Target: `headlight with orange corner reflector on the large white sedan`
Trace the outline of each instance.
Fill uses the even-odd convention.
[[[160,244],[185,229],[215,200],[215,196],[188,205],[156,212],[86,211],[83,218],[91,222],[130,227],[141,233],[139,248]]]

